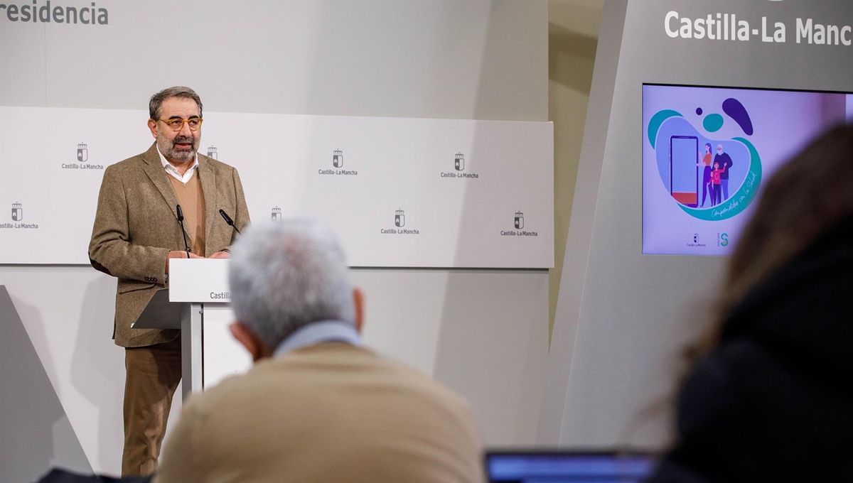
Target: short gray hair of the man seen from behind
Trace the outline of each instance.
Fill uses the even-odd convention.
[[[237,320],[272,350],[312,322],[355,320],[344,251],[316,221],[247,228],[231,249],[229,285]]]

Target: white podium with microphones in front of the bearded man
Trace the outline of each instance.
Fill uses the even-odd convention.
[[[133,324],[180,329],[183,400],[252,366],[251,356],[230,335],[229,302],[228,260],[175,258],[169,261],[169,288],[154,294]]]

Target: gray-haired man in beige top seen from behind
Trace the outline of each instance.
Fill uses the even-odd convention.
[[[155,481],[483,480],[467,404],[363,345],[363,296],[326,227],[248,228],[229,283],[255,365],[189,400]]]

